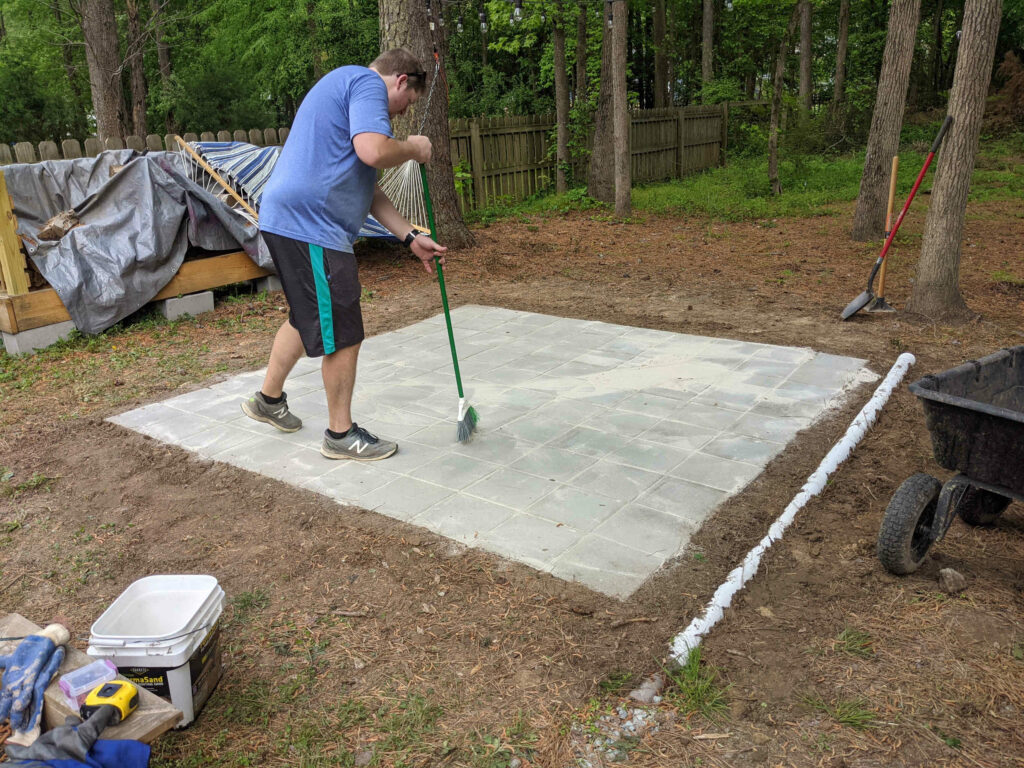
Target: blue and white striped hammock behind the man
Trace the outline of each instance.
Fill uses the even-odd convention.
[[[223,191],[226,183],[239,197],[259,210],[260,201],[263,199],[263,187],[266,186],[270,172],[273,171],[273,166],[281,155],[280,146],[256,146],[243,141],[189,141],[188,146],[216,171],[224,183],[213,178],[195,158],[182,151],[181,158],[193,181],[214,194]],[[409,221],[425,222],[426,205],[419,167],[413,163],[412,167],[408,168],[409,165],[407,163],[406,166],[385,171],[380,179],[381,188]],[[228,205],[233,203],[230,199],[226,202]],[[243,207],[236,204],[232,208],[253,223],[258,223]],[[418,228],[427,229],[425,226]],[[359,229],[359,237],[394,239],[394,236],[373,216],[367,216]]]

